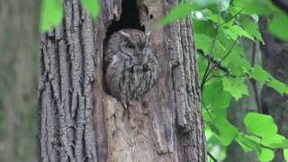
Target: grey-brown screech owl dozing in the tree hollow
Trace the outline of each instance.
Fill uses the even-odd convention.
[[[148,92],[157,81],[157,58],[149,34],[136,29],[115,31],[103,57],[108,91],[127,108],[132,98]]]

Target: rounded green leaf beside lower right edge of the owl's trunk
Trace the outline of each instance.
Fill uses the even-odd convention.
[[[231,141],[238,136],[238,129],[229,123],[225,118],[220,116],[213,119],[213,124],[217,128],[214,133],[224,146],[228,146]],[[212,129],[211,129],[212,130]]]

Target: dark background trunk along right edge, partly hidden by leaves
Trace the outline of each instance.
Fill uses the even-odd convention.
[[[288,84],[288,43],[276,40],[267,31],[266,17],[260,19],[260,27],[266,43],[262,46],[263,67],[276,79]],[[271,87],[264,86],[262,88],[261,99],[263,112],[272,115],[279,128],[278,133],[288,137],[288,127],[286,124],[288,118],[288,96],[278,94]],[[284,161],[282,150],[278,150],[275,154],[275,161]]]

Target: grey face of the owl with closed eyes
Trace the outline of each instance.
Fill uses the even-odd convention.
[[[140,32],[124,32],[120,31],[121,43],[120,49],[130,58],[136,58],[139,64],[145,64],[149,53],[149,35]]]

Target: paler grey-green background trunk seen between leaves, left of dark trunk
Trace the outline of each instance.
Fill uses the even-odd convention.
[[[244,49],[244,56],[249,60],[251,65],[254,67],[261,62],[261,50],[257,42],[243,39],[242,46]],[[247,79],[247,87],[249,95],[242,97],[239,101],[232,100],[228,109],[228,119],[237,126],[239,130],[246,131],[243,119],[247,112],[258,112],[258,102],[260,98],[261,88],[252,79]],[[255,152],[245,152],[241,147],[238,146],[237,141],[233,141],[227,148],[226,162],[233,161],[258,161]]]

